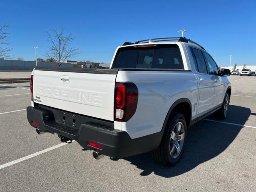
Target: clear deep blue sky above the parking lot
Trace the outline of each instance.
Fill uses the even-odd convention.
[[[46,30],[73,34],[81,54],[73,60],[111,62],[117,46],[145,38],[185,36],[206,48],[218,65],[256,65],[256,2],[251,1],[67,1],[9,0],[0,19],[10,22],[14,59],[34,60],[50,46]]]

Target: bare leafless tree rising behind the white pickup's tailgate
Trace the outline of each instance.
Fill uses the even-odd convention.
[[[46,52],[44,56],[52,58],[58,63],[59,67],[67,58],[72,58],[80,54],[79,49],[70,44],[70,42],[74,40],[74,37],[72,34],[65,36],[64,29],[62,29],[60,33],[58,33],[57,30],[52,30],[52,36],[47,31],[46,34],[52,46],[50,46],[49,51]]]

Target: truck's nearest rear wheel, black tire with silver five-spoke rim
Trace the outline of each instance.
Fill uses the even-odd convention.
[[[165,166],[174,166],[180,160],[186,144],[187,125],[181,113],[172,116],[158,148],[152,151],[154,160]]]

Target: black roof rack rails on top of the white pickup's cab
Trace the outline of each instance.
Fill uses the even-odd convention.
[[[198,44],[198,43],[196,43],[196,42],[194,42],[190,39],[187,39],[186,37],[162,37],[162,38],[154,38],[154,39],[144,39],[144,40],[136,41],[135,43],[125,42],[123,44],[123,46],[132,45],[132,44],[139,44],[139,43],[160,42],[160,41],[179,41],[179,42],[185,42],[185,43],[191,42],[193,44],[196,44],[200,48],[204,49],[203,46],[201,46],[200,44]]]

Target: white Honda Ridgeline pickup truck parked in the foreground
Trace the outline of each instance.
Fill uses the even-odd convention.
[[[192,124],[213,112],[226,118],[229,75],[184,37],[125,42],[110,69],[36,67],[27,118],[38,134],[76,140],[96,159],[152,152],[173,166]]]

